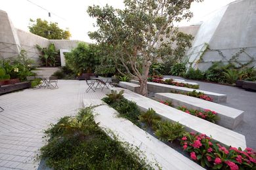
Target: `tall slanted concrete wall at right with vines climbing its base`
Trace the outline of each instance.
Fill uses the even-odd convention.
[[[238,55],[240,63],[252,61],[256,66],[256,1],[240,0],[230,3],[203,22],[194,39],[192,48],[187,52],[192,66],[201,70],[209,68],[213,61],[228,61]],[[205,54],[204,43],[209,44]],[[244,50],[240,51],[242,48]],[[197,63],[198,60],[200,63]]]

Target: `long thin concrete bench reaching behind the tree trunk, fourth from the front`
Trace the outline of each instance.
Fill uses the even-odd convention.
[[[132,83],[139,84],[137,80],[131,80]],[[154,93],[169,93],[172,90],[175,90],[177,92],[192,92],[194,89],[192,88],[184,88],[184,87],[178,87],[178,86],[171,86],[168,84],[160,84],[156,82],[148,82],[148,91],[154,92]],[[213,92],[207,92],[204,90],[196,90],[196,92],[202,92],[205,95],[208,95],[213,99],[213,102],[215,103],[222,103],[226,102],[226,95],[220,94],[220,93],[213,93]]]

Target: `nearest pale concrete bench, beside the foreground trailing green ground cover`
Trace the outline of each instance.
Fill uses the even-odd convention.
[[[100,104],[102,104],[100,100],[83,100],[85,107]],[[194,161],[173,150],[173,148],[162,143],[152,135],[145,133],[144,130],[135,126],[129,120],[118,117],[116,110],[107,105],[96,107],[94,114],[95,122],[100,123],[100,128],[108,133],[110,137],[113,135],[110,133],[111,131],[119,141],[128,142],[138,147],[144,153],[144,156],[146,156],[146,161],[152,162],[152,165],[157,161],[162,169],[203,169],[203,167]],[[141,158],[144,156],[142,154]],[[154,166],[154,169],[158,169],[156,165]]]

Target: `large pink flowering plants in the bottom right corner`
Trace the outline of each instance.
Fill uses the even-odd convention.
[[[256,152],[251,148],[226,147],[216,143],[210,137],[198,133],[184,133],[181,138],[183,150],[202,167],[210,169],[255,169]]]

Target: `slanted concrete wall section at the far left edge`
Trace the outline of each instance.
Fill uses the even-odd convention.
[[[0,10],[0,58],[11,58],[20,52],[16,29],[7,12]]]

